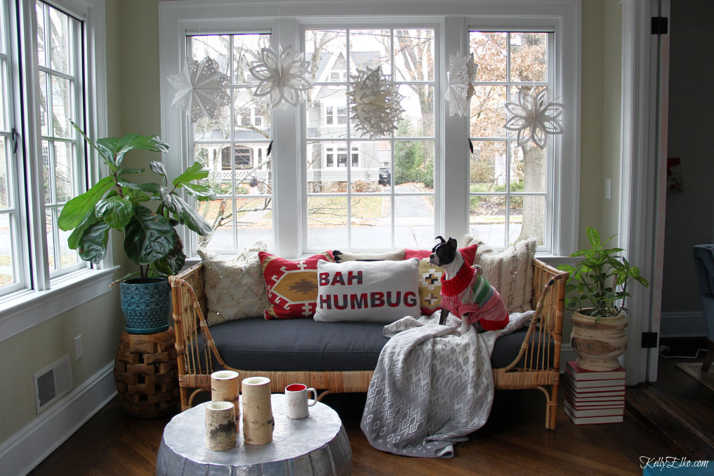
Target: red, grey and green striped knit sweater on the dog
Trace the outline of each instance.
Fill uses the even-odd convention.
[[[508,311],[498,291],[476,268],[461,266],[451,279],[441,277],[441,306],[468,323],[478,322],[485,330],[499,330],[508,324]]]

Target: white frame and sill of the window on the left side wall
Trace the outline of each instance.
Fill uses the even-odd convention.
[[[21,198],[22,223],[29,226],[21,231],[18,253],[23,267],[21,289],[0,297],[0,342],[24,332],[34,325],[86,303],[99,295],[108,293],[109,283],[114,278],[111,243],[105,260],[97,265],[86,265],[70,273],[50,277],[47,266],[45,236],[44,182],[41,159],[34,163],[31,158],[41,158],[41,113],[39,108],[39,66],[36,60],[36,12],[34,0],[2,0],[10,18],[11,56],[14,75],[21,74],[22,81],[14,81],[14,123],[20,133],[20,145],[14,160],[18,176],[18,194]],[[92,137],[107,134],[106,125],[106,38],[104,0],[48,0],[66,14],[83,21],[81,32],[84,43],[84,111],[80,116],[86,133]],[[17,41],[21,44],[18,49]],[[19,71],[19,73],[18,73]],[[16,79],[17,76],[14,76]],[[19,84],[21,82],[21,85]],[[22,101],[21,101],[22,99]],[[78,116],[79,118],[79,116]],[[86,161],[86,178],[79,183],[80,191],[96,183],[101,172],[106,171],[94,151],[84,147],[77,136],[77,147],[89,152]]]

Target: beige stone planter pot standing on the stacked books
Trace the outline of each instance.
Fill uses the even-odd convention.
[[[599,318],[574,313],[570,345],[578,353],[575,363],[587,370],[620,368],[618,357],[627,350],[627,316],[620,312],[613,317]]]

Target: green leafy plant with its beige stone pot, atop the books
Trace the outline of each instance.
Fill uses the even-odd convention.
[[[581,258],[578,263],[558,266],[570,273],[565,285],[565,308],[574,311],[570,345],[580,368],[614,370],[627,349],[628,285],[636,282],[647,288],[649,283],[620,255],[623,248],[606,248],[615,235],[603,241],[595,228],[587,227],[585,233],[590,248],[570,255]]]

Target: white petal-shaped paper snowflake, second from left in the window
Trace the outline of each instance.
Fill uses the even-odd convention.
[[[297,106],[312,86],[310,61],[306,61],[302,53],[296,54],[292,45],[286,49],[278,46],[278,51],[261,49],[260,61],[253,63],[248,71],[258,81],[253,96],[270,96],[273,108],[283,101]]]

